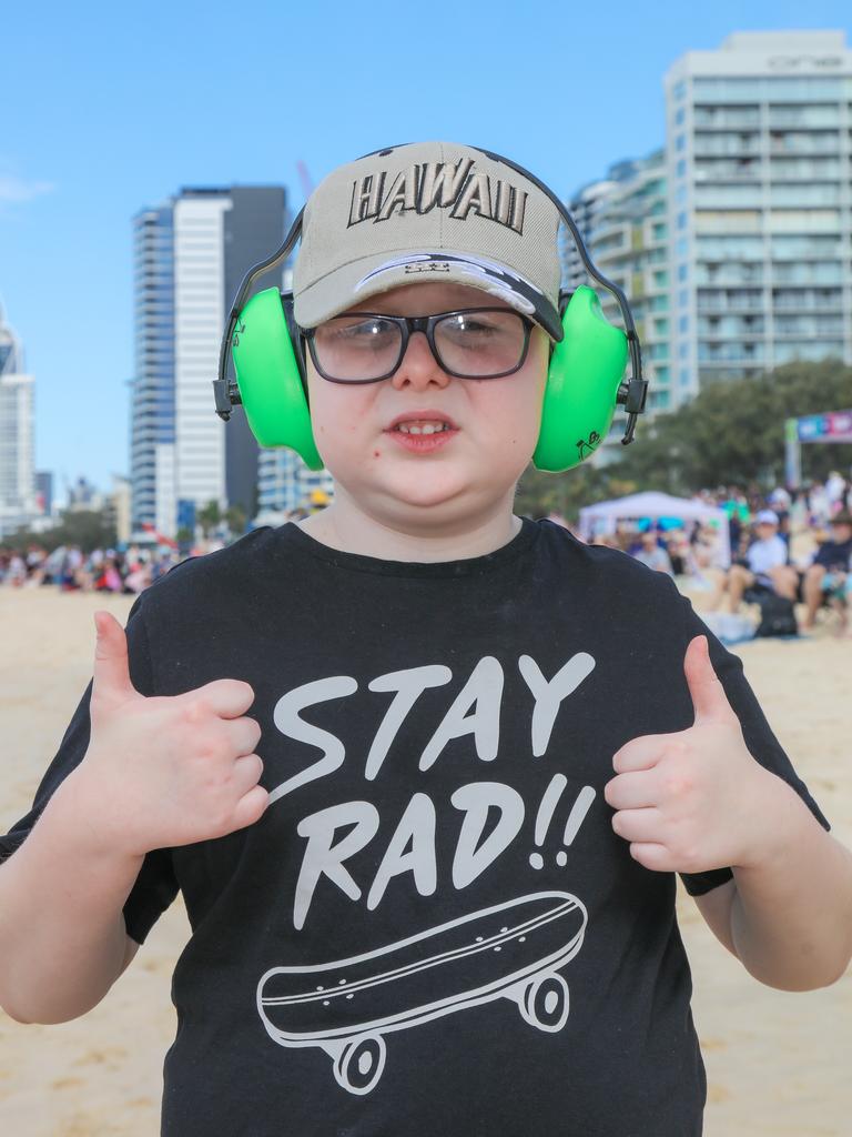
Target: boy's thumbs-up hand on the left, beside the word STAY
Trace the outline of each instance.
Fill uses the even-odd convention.
[[[90,829],[133,856],[224,837],[268,803],[254,754],[260,727],[248,683],[217,679],[184,695],[148,698],[133,687],[124,629],[95,613],[91,737],[77,773]]]

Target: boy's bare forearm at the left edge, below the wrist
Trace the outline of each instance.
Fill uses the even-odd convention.
[[[0,866],[0,1005],[19,1021],[75,1019],[123,970],[122,908],[142,858],[99,845],[97,807],[74,771]]]

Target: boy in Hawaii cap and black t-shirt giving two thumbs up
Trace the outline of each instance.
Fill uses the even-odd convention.
[[[459,171],[467,211],[387,193]],[[5,840],[0,1002],[84,1013],[182,889],[172,1137],[696,1135],[674,873],[762,981],[849,961],[851,858],[738,659],[665,574],[512,514],[557,221],[467,147],[334,172],[294,280],[333,505],[179,565],[126,640],[98,615]]]

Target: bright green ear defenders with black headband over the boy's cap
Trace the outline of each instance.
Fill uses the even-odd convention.
[[[627,412],[621,442],[627,446],[633,441],[648,392],[636,327],[627,298],[594,266],[574,218],[559,198],[523,166],[487,150],[481,152],[517,171],[550,198],[586,272],[615,297],[621,310],[625,331],[609,323],[593,289],[583,284],[573,293],[560,293],[563,337],[552,345],[533,464],[537,470],[561,473],[594,454],[609,432],[617,406]],[[293,294],[269,288],[247,302],[257,277],[281,265],[292,252],[301,236],[303,213],[299,213],[282,247],[249,269],[240,285],[222,339],[214,393],[216,413],[225,422],[232,407],[242,404],[260,446],[289,447],[310,470],[321,470],[308,409],[304,351],[293,316]],[[228,347],[236,383],[227,377]],[[628,354],[633,374],[624,380]]]

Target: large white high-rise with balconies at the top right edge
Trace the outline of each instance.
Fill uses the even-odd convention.
[[[737,32],[666,75],[673,404],[792,359],[852,363],[852,51]]]

